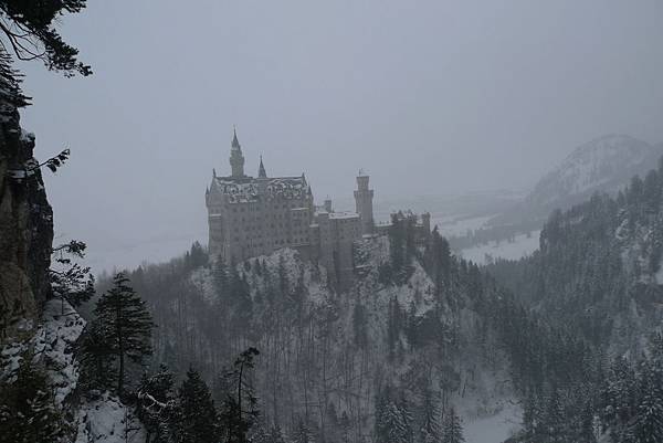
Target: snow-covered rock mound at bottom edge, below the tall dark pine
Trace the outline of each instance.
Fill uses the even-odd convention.
[[[133,443],[145,441],[145,428],[116,397],[104,392],[84,402],[77,414],[75,443]]]

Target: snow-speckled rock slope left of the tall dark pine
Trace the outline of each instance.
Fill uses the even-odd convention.
[[[33,338],[34,359],[43,361],[55,389],[55,403],[61,405],[78,382],[78,363],[73,345],[78,339],[85,320],[64,300],[46,302],[43,323]]]

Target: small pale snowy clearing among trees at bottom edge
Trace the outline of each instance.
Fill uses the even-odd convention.
[[[465,443],[502,443],[519,429],[519,422],[520,410],[515,405],[508,405],[493,416],[465,420]]]

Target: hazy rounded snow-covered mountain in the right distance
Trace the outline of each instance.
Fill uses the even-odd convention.
[[[656,167],[663,145],[650,145],[627,135],[607,135],[573,149],[541,178],[523,202],[496,217],[492,225],[545,220],[555,209],[568,209],[594,192],[610,194]]]

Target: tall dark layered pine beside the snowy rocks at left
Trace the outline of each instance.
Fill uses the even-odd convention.
[[[117,393],[124,393],[126,360],[141,363],[151,354],[151,316],[145,302],[118,273],[113,287],[104,294],[94,310],[104,341],[117,358]]]

